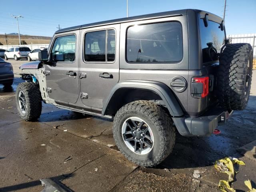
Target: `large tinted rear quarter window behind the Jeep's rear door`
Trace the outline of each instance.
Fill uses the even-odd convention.
[[[182,26],[179,22],[135,25],[128,28],[128,62],[178,62],[182,57]]]

